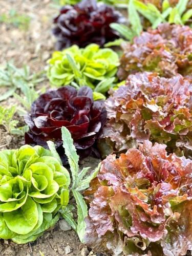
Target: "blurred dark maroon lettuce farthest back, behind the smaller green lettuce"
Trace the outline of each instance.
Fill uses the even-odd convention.
[[[54,19],[56,48],[62,50],[71,45],[86,47],[91,43],[103,46],[105,42],[119,37],[110,24],[123,23],[124,20],[113,7],[97,3],[96,0],[83,0],[74,6],[63,6]]]

